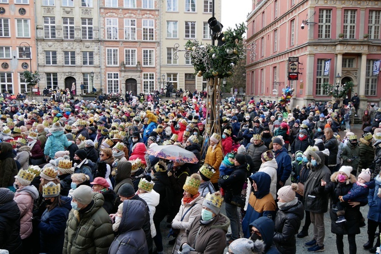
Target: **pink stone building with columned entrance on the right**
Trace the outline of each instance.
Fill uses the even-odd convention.
[[[381,59],[381,2],[335,0],[253,0],[247,17],[246,94],[277,101],[282,89],[295,89],[291,106],[329,101],[322,85],[352,81],[360,108],[379,102],[381,84],[372,75]],[[302,25],[303,24],[303,25]],[[298,80],[289,80],[289,57],[299,57]],[[327,61],[330,61],[330,65]],[[295,68],[295,67],[294,67]],[[325,68],[327,68],[325,70]]]

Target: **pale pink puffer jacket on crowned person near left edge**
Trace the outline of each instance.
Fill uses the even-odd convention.
[[[37,188],[33,185],[21,186],[16,190],[14,201],[16,201],[20,209],[20,236],[21,239],[28,238],[32,233],[31,217],[32,210],[39,197]]]

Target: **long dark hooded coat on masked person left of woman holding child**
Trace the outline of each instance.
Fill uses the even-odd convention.
[[[328,195],[320,192],[321,180],[328,182],[331,171],[324,165],[325,156],[320,151],[308,151],[307,158],[311,161],[311,156],[316,160],[317,166],[313,167],[304,182],[304,209],[315,213],[324,213],[328,210]]]

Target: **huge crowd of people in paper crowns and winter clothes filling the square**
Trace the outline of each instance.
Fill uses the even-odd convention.
[[[0,249],[164,253],[165,220],[172,253],[320,252],[329,212],[338,253],[365,222],[379,252],[381,108],[357,137],[349,101],[225,101],[213,133],[199,94],[0,102]],[[147,153],[163,145],[197,163]]]

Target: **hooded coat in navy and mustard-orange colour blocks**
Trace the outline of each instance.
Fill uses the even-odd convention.
[[[245,217],[242,219],[242,231],[245,238],[250,237],[250,227],[252,221],[259,217],[269,217],[275,219],[276,205],[274,198],[270,194],[271,177],[265,172],[257,172],[250,176],[257,184],[257,192],[249,194],[249,201]]]

